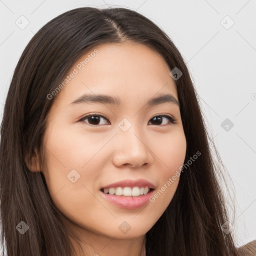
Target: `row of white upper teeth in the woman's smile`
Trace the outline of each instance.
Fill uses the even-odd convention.
[[[138,186],[134,186],[134,187],[129,187],[129,186],[125,186],[125,187],[109,187],[109,188],[104,188],[104,193],[109,193],[109,194],[115,194],[115,195],[125,195],[125,196],[139,196],[142,194],[146,194],[149,191],[149,187],[145,186],[145,187],[138,187]]]

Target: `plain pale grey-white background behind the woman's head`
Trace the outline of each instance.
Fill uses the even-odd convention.
[[[236,245],[256,239],[255,0],[0,0],[1,116],[14,67],[33,34],[81,6],[137,10],[170,36],[187,62],[212,141],[235,188]]]

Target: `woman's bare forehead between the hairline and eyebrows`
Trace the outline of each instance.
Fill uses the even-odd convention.
[[[66,106],[84,93],[107,94],[120,104],[141,104],[157,93],[177,99],[174,80],[163,57],[134,42],[104,43],[81,55],[63,78],[58,103]]]

